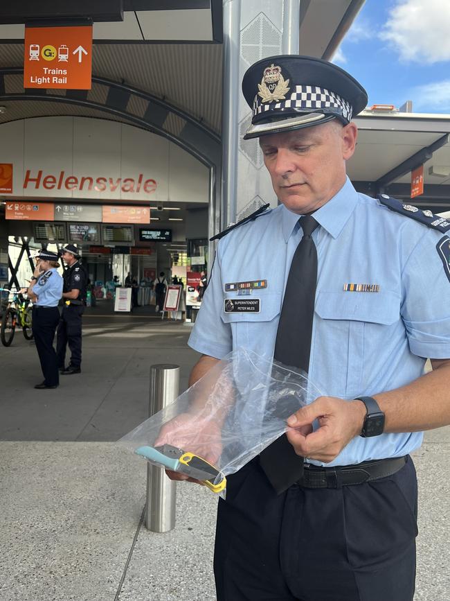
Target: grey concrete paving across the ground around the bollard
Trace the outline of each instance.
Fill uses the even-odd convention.
[[[42,380],[33,344],[0,347],[0,601],[213,601],[217,498],[177,485],[177,525],[143,524],[145,462],[114,444],[147,417],[149,369],[198,355],[189,326],[152,315],[84,317],[82,374]],[[450,428],[415,453],[415,601],[450,598]],[[380,600],[383,601],[383,600]]]

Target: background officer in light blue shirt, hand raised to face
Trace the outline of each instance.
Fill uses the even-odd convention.
[[[57,272],[60,264],[55,252],[42,250],[36,257],[36,268],[30,279],[28,296],[34,299],[33,304],[33,336],[37,354],[41,362],[44,381],[35,388],[57,388],[59,374],[57,358],[53,348],[56,326],[60,320],[58,302],[62,295],[62,277]]]

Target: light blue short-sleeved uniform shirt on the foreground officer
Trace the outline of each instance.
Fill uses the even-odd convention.
[[[298,218],[280,205],[222,238],[190,347],[219,359],[237,347],[273,356],[303,235]],[[450,281],[436,250],[444,234],[357,193],[350,180],[314,218],[321,227],[312,234],[318,281],[308,375],[323,394],[374,396],[421,376],[425,358],[450,358]],[[267,288],[251,296],[225,292],[227,283],[259,279]],[[376,284],[379,292],[345,291],[345,284]],[[228,298],[259,298],[260,312],[225,313]],[[355,437],[327,466],[406,455],[422,437]]]

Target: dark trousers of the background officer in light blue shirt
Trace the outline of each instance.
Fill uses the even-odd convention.
[[[53,347],[56,326],[60,320],[57,307],[33,307],[33,336],[35,337],[37,354],[41,362],[44,383],[57,386],[60,383],[57,358]]]

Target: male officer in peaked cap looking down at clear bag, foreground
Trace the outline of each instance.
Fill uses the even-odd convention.
[[[355,191],[345,162],[367,95],[336,65],[267,58],[242,89],[253,110],[246,138],[259,138],[280,204],[223,233],[189,340],[203,355],[190,384],[242,346],[279,356],[291,340],[283,363],[300,367],[308,338],[308,376],[327,396],[228,477],[217,600],[412,601],[410,453],[450,415],[450,224]],[[302,330],[297,313],[309,305]],[[199,437],[217,424],[202,427]]]

